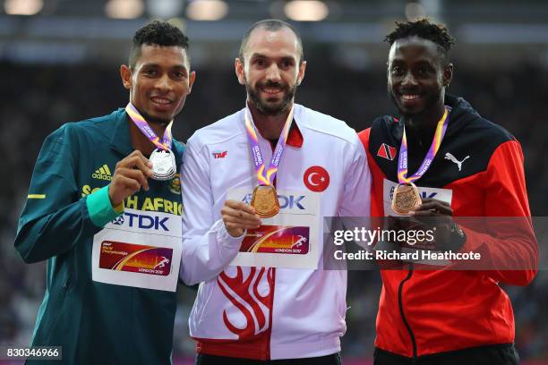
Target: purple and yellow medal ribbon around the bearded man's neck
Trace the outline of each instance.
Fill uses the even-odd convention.
[[[266,171],[261,147],[259,147],[259,138],[257,137],[257,132],[253,126],[253,117],[247,106],[245,107],[244,118],[245,130],[247,131],[247,137],[252,147],[253,164],[255,166],[255,173],[257,174],[257,181],[259,182],[259,185],[272,185],[274,183],[276,173],[278,172],[279,160],[281,159],[284,149],[286,148],[289,126],[291,125],[291,122],[293,122],[293,106],[289,111],[289,115],[287,115],[286,124],[284,124],[284,128],[282,129],[281,135],[278,139],[278,143],[276,144],[276,149],[274,149],[269,167]]]

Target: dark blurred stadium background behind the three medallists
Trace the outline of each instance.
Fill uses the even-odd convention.
[[[548,102],[548,3],[543,0],[222,1],[0,0],[0,344],[27,345],[45,287],[45,263],[25,265],[13,250],[17,219],[42,141],[62,123],[106,115],[128,96],[118,75],[133,32],[172,19],[191,38],[197,81],[174,134],[194,130],[244,106],[233,63],[254,21],[276,17],[302,33],[308,61],[297,102],[341,118],[357,131],[393,113],[386,95],[382,42],[394,21],[428,15],[457,38],[450,93],[521,141],[534,216],[548,214],[545,168]],[[92,151],[90,151],[92,153]],[[516,315],[523,363],[548,363],[548,275],[506,288]],[[346,364],[372,358],[380,278],[351,272],[343,340]],[[174,361],[190,361],[187,318],[193,291],[181,288]],[[321,300],[321,299],[320,299]]]

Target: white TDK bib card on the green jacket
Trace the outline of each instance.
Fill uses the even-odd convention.
[[[175,292],[181,265],[181,216],[124,210],[93,237],[93,281]]]

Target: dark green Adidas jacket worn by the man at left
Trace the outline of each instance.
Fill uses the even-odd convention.
[[[172,149],[178,173],[184,146],[174,140]],[[171,362],[176,293],[91,280],[93,236],[118,216],[107,188],[98,188],[132,151],[129,119],[119,109],[50,134],[32,174],[15,248],[27,263],[47,259],[32,345],[63,346],[64,364]],[[150,191],[126,199],[125,207],[180,216],[178,178],[150,179]],[[164,203],[155,206],[158,199]]]

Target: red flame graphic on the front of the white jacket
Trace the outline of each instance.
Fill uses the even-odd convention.
[[[265,267],[261,267],[260,270],[257,267],[250,267],[249,275],[244,278],[242,267],[237,267],[235,277],[227,276],[225,272],[222,272],[217,278],[220,290],[244,315],[245,327],[239,328],[228,319],[227,310],[223,311],[225,326],[227,326],[230,332],[237,335],[239,340],[250,339],[259,335],[270,326],[270,294],[273,286],[271,267],[266,273],[269,293],[261,296],[258,291],[265,271]]]

